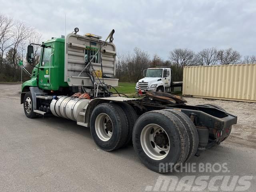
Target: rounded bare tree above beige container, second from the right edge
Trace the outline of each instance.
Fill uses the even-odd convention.
[[[241,57],[240,53],[232,48],[218,51],[218,61],[221,65],[238,64]]]

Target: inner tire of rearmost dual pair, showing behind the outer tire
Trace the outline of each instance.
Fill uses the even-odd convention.
[[[190,148],[188,152],[188,157],[186,158],[186,161],[187,161],[196,154],[196,151],[198,149],[199,139],[198,139],[198,132],[196,130],[196,126],[190,120],[190,118],[186,114],[182,113],[181,111],[173,110],[173,109],[165,109],[165,111],[168,111],[174,114],[180,120],[180,122],[182,122],[182,124],[185,126],[186,130],[188,131]]]

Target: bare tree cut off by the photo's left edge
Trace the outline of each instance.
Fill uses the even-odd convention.
[[[13,19],[0,14],[0,69],[2,69],[4,52],[13,45],[10,41],[13,35],[11,31],[12,26]]]

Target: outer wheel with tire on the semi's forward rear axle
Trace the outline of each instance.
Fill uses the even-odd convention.
[[[116,150],[127,141],[128,120],[117,104],[99,104],[92,111],[90,131],[94,142],[102,150]]]

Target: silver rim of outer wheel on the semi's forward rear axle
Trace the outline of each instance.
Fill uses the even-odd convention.
[[[101,113],[95,120],[95,131],[102,141],[108,141],[113,134],[113,123],[106,113]]]

